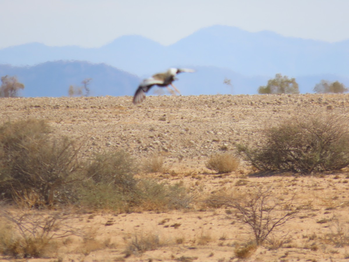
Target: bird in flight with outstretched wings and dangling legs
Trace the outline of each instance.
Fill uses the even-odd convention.
[[[195,72],[195,70],[188,69],[188,68],[170,68],[164,73],[157,73],[150,78],[144,79],[140,83],[136,92],[134,93],[133,103],[134,104],[141,103],[146,97],[146,93],[152,86],[167,87],[171,92],[172,90],[168,87],[168,85],[171,85],[174,88],[174,90],[176,90],[177,93],[180,94],[180,92],[173,85],[172,82],[174,80],[177,80],[176,75],[181,72],[193,73]]]

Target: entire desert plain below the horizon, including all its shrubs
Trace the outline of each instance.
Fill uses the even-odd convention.
[[[348,257],[348,94],[131,102],[2,100],[0,259]]]

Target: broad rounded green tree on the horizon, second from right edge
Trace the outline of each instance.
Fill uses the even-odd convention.
[[[276,74],[268,81],[267,86],[258,88],[259,94],[299,94],[298,83],[295,78],[289,79],[286,75]]]

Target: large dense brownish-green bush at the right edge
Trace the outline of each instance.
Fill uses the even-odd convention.
[[[311,173],[349,164],[348,119],[319,113],[300,114],[267,128],[259,146],[238,145],[255,168]]]

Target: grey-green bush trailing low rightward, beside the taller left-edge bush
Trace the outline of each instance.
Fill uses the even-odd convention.
[[[122,151],[97,155],[86,170],[80,203],[91,208],[165,211],[188,208],[193,198],[181,184],[135,179],[135,161]]]

